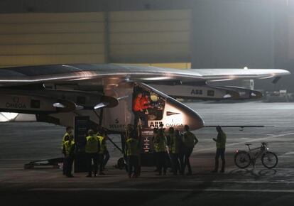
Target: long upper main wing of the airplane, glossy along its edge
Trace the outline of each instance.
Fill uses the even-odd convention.
[[[289,75],[287,70],[272,69],[190,69],[175,70],[163,67],[145,67],[134,65],[39,65],[27,67],[9,67],[0,69],[0,87],[17,85],[36,85],[58,82],[91,82],[107,79],[120,82],[170,82],[180,81],[190,85],[195,82],[211,82],[237,79],[265,79]],[[103,80],[103,81],[102,81]]]

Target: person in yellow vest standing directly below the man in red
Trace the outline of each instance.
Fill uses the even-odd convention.
[[[138,178],[139,173],[139,141],[136,129],[130,132],[126,140],[126,156],[128,159],[129,178]],[[133,170],[134,168],[134,170]]]

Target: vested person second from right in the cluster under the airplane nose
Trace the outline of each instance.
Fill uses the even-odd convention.
[[[180,170],[180,136],[175,134],[175,129],[173,127],[170,127],[170,129],[168,129],[168,134],[170,139],[169,149],[172,160],[173,174],[178,175],[178,171]]]

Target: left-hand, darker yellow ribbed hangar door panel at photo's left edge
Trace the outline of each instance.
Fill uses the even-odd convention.
[[[104,13],[0,14],[0,67],[104,63]]]

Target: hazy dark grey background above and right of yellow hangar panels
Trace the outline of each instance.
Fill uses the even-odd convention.
[[[293,0],[1,0],[0,13],[192,9],[192,68],[283,68],[294,73]],[[293,34],[293,35],[292,35]],[[148,60],[146,60],[148,62]],[[278,85],[293,90],[293,76]]]

